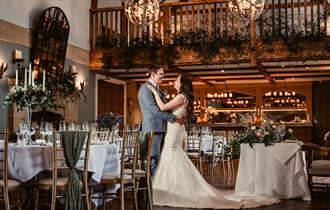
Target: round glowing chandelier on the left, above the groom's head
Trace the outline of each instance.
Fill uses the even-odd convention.
[[[157,0],[127,0],[125,13],[132,23],[147,26],[158,20],[159,3]]]

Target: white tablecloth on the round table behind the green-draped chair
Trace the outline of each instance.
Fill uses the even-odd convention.
[[[39,145],[9,145],[9,178],[25,182],[44,170],[52,169],[52,147]],[[82,162],[78,162],[78,166]],[[103,173],[120,174],[119,156],[115,144],[91,145],[88,171],[92,179],[101,180]]]

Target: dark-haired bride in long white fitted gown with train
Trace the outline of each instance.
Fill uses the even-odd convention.
[[[174,82],[177,96],[164,104],[158,92],[153,92],[159,108],[171,110],[175,115],[193,117],[193,86],[191,78],[179,75]],[[167,124],[160,162],[153,176],[153,202],[158,206],[185,208],[240,209],[270,205],[277,198],[252,193],[233,193],[208,184],[186,155],[183,147],[187,133],[184,125]]]

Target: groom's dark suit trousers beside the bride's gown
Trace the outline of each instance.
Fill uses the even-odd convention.
[[[158,165],[161,150],[163,148],[164,136],[165,136],[165,132],[156,132],[154,134],[152,151],[151,151],[151,163],[150,163],[151,176],[154,174]]]

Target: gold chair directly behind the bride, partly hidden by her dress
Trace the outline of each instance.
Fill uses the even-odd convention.
[[[201,131],[187,131],[186,154],[192,162],[195,162],[197,169],[203,175],[201,143]]]

